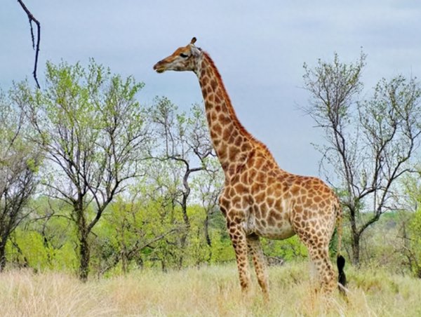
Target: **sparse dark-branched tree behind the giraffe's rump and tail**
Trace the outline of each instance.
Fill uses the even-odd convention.
[[[335,54],[333,62],[319,60],[314,68],[305,64],[303,76],[311,98],[305,111],[326,137],[326,144],[317,146],[323,154],[321,170],[347,211],[354,264],[360,262],[363,232],[397,208],[396,181],[410,170],[421,134],[416,79],[382,79],[373,97],[359,101],[365,59],[361,53],[359,60],[345,64]]]

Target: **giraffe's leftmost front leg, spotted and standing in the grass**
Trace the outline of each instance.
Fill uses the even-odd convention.
[[[235,251],[241,290],[247,294],[250,290],[250,270],[248,267],[246,234],[240,224],[230,223],[227,224],[227,227]]]

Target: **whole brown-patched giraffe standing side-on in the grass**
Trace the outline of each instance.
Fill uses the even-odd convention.
[[[265,144],[240,123],[218,69],[195,42],[193,38],[187,46],[157,62],[154,69],[158,73],[192,71],[199,79],[210,138],[225,175],[219,204],[235,250],[241,289],[247,293],[250,288],[250,252],[258,283],[268,299],[260,237],[285,239],[297,234],[316,267],[321,291],[330,294],[338,283],[328,255],[335,225],[338,250],[342,236],[338,197],[319,178],[293,175],[279,168]],[[337,263],[345,287],[345,259],[339,251]]]

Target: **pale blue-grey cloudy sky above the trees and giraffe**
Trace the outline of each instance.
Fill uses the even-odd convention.
[[[319,175],[312,143],[323,131],[302,112],[309,102],[302,65],[338,53],[363,70],[369,97],[382,77],[421,76],[421,1],[415,0],[25,0],[41,22],[38,76],[46,61],[87,65],[89,58],[145,83],[151,105],[166,96],[182,110],[202,102],[192,72],[157,74],[153,65],[196,36],[218,67],[243,126],[267,144],[283,170]],[[15,0],[0,6],[0,87],[33,83],[27,15]]]

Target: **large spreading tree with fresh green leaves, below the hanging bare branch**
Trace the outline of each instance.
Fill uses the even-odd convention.
[[[148,140],[145,114],[133,77],[121,79],[91,60],[47,63],[45,90],[26,83],[15,100],[36,131],[34,142],[51,163],[44,170],[49,195],[71,206],[79,241],[79,277],[88,277],[89,238],[105,209],[128,180],[142,173]]]

